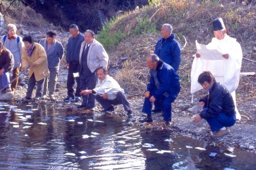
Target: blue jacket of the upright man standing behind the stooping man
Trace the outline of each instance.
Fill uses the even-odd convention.
[[[174,38],[175,35],[171,34],[170,37],[163,39],[159,38],[155,45],[155,54],[159,56],[161,60],[169,64],[175,71],[179,69],[181,56],[181,45]]]

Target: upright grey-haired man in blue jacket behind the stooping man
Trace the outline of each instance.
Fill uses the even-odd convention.
[[[155,54],[159,56],[161,60],[169,64],[175,71],[179,69],[181,56],[181,45],[175,39],[173,33],[173,27],[170,24],[163,24],[161,29],[161,37],[155,45]],[[156,101],[155,109],[153,112],[161,112],[160,103]]]

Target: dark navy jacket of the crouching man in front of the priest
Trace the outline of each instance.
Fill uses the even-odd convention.
[[[209,119],[217,117],[220,113],[228,116],[235,115],[235,105],[228,89],[220,83],[214,83],[209,94],[201,98],[199,102],[203,101],[206,107],[201,111],[200,117],[202,119]]]

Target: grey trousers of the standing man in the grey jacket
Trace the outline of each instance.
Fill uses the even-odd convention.
[[[47,89],[49,89],[49,96],[53,95],[55,92],[57,81],[58,81],[58,69],[49,68],[49,71],[50,71],[50,76],[47,76],[45,78],[45,86],[43,87],[43,96],[47,94]],[[48,83],[48,77],[49,77],[49,83]]]

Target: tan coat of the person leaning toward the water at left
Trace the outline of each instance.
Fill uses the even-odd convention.
[[[38,43],[33,43],[32,49],[34,47],[35,49],[33,50],[31,56],[28,56],[25,51],[25,47],[22,47],[21,63],[22,68],[27,68],[29,65],[34,63],[34,66],[32,66],[32,68],[30,68],[28,71],[28,76],[30,78],[31,75],[34,73],[36,81],[40,81],[42,79],[45,79],[49,74],[47,55],[42,45]]]

